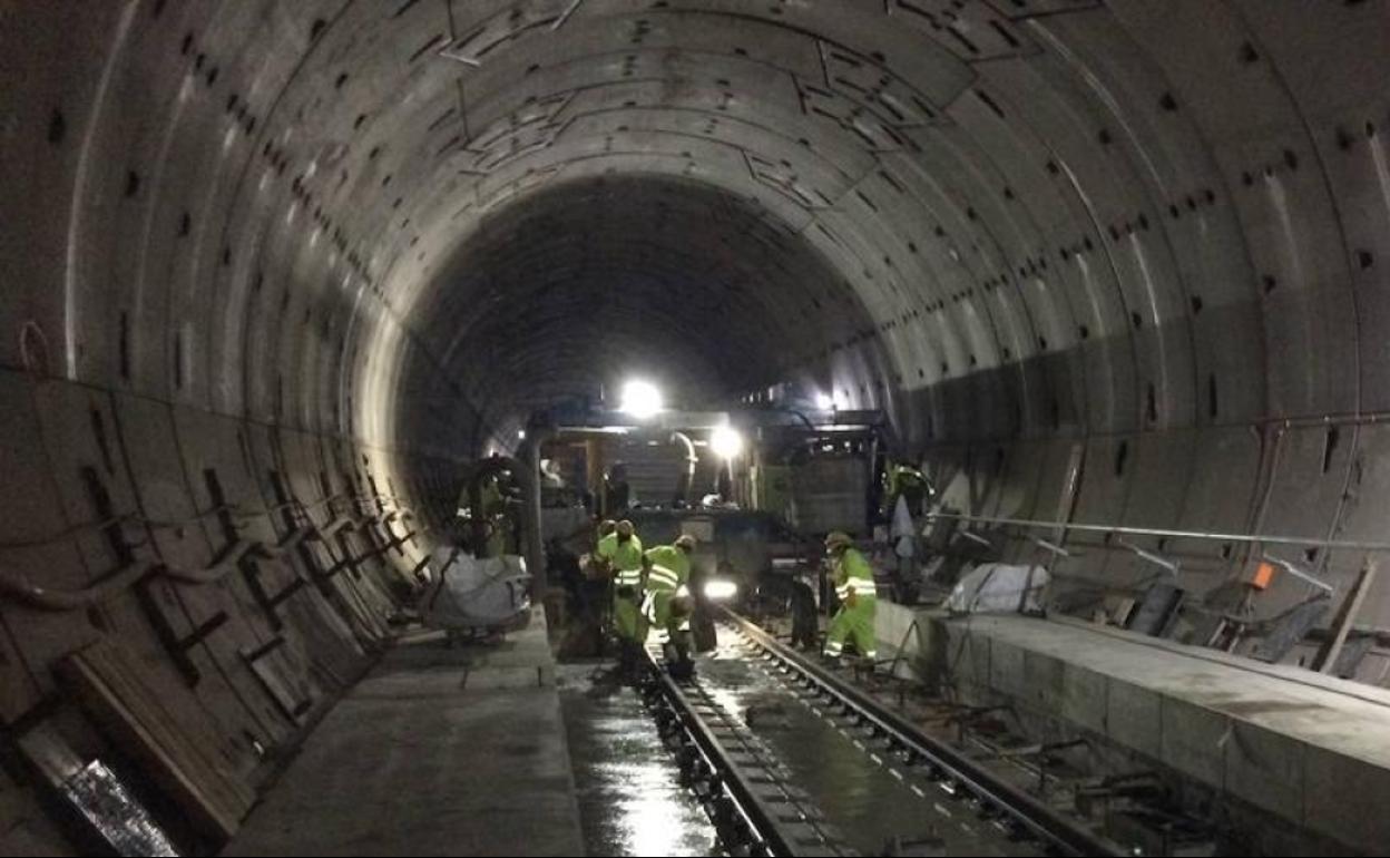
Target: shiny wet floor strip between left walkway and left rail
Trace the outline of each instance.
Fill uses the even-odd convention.
[[[596,665],[560,665],[556,681],[588,854],[721,854],[637,691]]]

